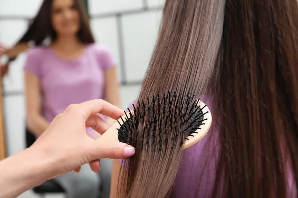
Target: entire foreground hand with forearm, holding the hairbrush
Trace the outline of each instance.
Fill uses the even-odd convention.
[[[97,113],[113,119],[123,115],[121,109],[100,99],[70,105],[31,147],[0,161],[0,198],[15,198],[50,177],[88,162],[93,171],[99,171],[98,159],[134,155],[133,147],[114,139],[107,141],[109,135],[97,140],[87,135],[85,127],[98,133],[110,127]]]

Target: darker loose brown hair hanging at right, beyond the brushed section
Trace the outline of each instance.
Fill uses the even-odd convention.
[[[298,189],[297,0],[226,0],[214,196],[286,198]],[[222,180],[224,179],[224,180]],[[290,189],[289,180],[294,183]],[[296,184],[295,184],[296,183]]]

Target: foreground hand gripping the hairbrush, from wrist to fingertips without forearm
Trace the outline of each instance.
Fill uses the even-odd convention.
[[[124,114],[118,107],[101,99],[72,104],[55,117],[31,146],[31,149],[42,151],[57,161],[53,174],[74,169],[78,172],[80,166],[88,162],[91,169],[98,172],[101,158],[122,159],[134,155],[135,149],[125,143],[111,143],[101,137],[94,140],[87,135],[86,127],[92,127],[100,134],[110,127],[97,113],[113,119]]]

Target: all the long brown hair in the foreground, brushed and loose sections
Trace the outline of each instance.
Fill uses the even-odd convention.
[[[166,0],[139,100],[167,91],[213,98],[221,126],[212,197],[297,192],[297,0]],[[182,147],[134,146],[117,198],[170,197]],[[205,169],[193,170],[198,180]]]

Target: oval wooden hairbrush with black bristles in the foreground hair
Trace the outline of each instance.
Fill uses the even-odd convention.
[[[194,97],[168,92],[138,101],[103,136],[137,150],[162,150],[164,142],[165,148],[189,148],[207,134],[212,121],[208,107]]]

